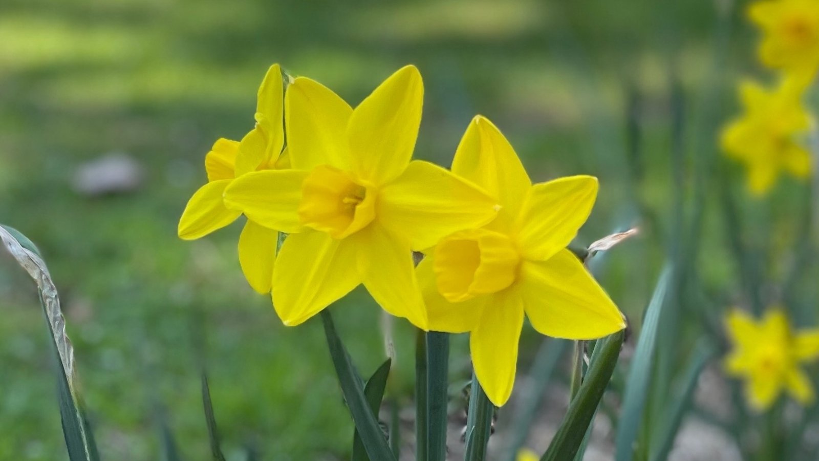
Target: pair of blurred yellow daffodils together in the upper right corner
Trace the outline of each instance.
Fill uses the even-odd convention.
[[[744,114],[722,131],[722,148],[743,162],[753,194],[766,194],[782,172],[806,178],[812,116],[803,98],[819,67],[819,0],[762,0],[749,8],[762,30],[759,59],[778,73],[776,86],[740,83]]]

